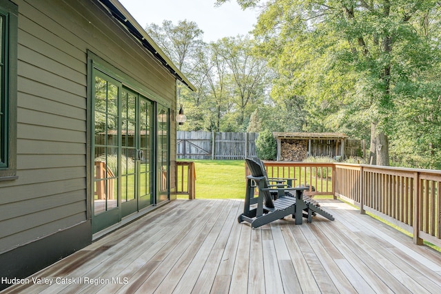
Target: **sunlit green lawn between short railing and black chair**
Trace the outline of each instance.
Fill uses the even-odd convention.
[[[244,160],[192,161],[196,168],[196,199],[245,198]],[[188,196],[178,198],[188,199]]]

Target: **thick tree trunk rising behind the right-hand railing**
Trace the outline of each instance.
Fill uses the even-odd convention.
[[[369,164],[389,166],[389,138],[377,129],[376,123],[371,123],[371,147],[369,149]]]

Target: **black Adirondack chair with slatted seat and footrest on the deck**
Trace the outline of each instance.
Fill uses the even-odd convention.
[[[247,176],[245,205],[243,213],[238,216],[238,222],[249,222],[252,228],[257,228],[291,215],[296,219],[296,224],[302,224],[303,210],[307,211],[308,222],[312,221],[312,213],[314,211],[329,220],[334,220],[333,216],[326,211],[303,200],[302,194],[305,189],[308,189],[307,187],[283,187],[276,189],[269,187],[267,177],[258,162],[249,158],[245,159],[245,162],[251,175]],[[256,188],[258,189],[258,197],[254,197]],[[290,191],[289,196],[284,194],[273,200],[271,191],[278,189],[281,189],[283,193]],[[252,204],[257,204],[257,207],[252,208]]]

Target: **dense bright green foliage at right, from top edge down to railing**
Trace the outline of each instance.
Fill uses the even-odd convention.
[[[305,113],[302,130],[369,141],[376,125],[397,165],[441,167],[437,1],[237,2],[262,4],[254,33],[276,73],[271,98]]]

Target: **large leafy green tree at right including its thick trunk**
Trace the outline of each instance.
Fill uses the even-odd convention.
[[[247,8],[262,1],[238,3]],[[351,116],[367,112],[361,116],[370,120],[372,163],[389,165],[390,117],[407,98],[402,85],[433,67],[431,56],[438,50],[433,42],[439,36],[428,38],[422,32],[430,30],[416,28],[437,5],[430,0],[272,0],[261,7],[255,34],[274,45],[269,63],[283,76],[307,81],[297,91],[306,99],[309,118],[325,122],[339,109]],[[276,66],[281,61],[289,67]]]

